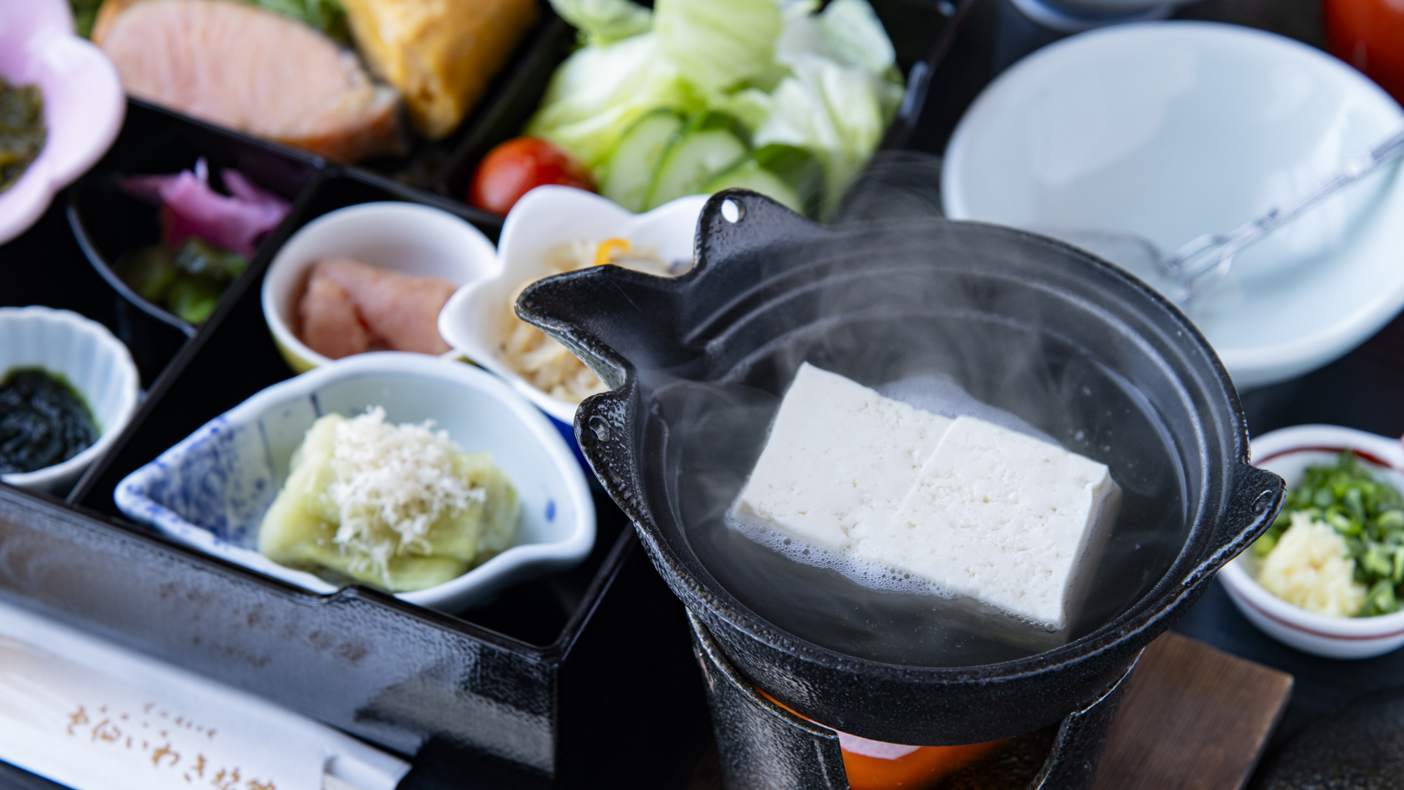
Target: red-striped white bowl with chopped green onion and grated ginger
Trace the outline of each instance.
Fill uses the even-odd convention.
[[[1252,440],[1254,464],[1287,482],[1272,527],[1219,578],[1272,638],[1328,658],[1404,645],[1404,447],[1306,425]]]

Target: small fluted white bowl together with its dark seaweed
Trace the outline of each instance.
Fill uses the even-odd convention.
[[[105,326],[69,311],[0,308],[0,481],[63,492],[136,403],[136,365]]]

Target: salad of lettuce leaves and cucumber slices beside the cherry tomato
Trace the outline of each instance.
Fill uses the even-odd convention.
[[[901,103],[866,0],[552,0],[583,46],[526,134],[632,211],[748,187],[830,216]]]

